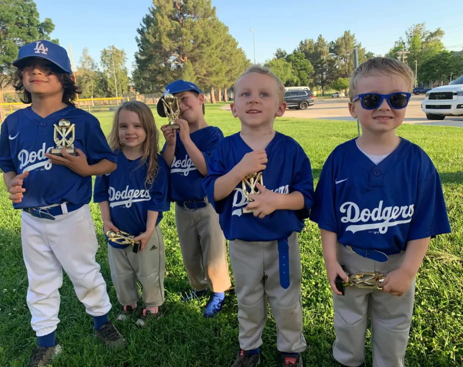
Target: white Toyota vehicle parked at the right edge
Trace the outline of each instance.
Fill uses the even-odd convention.
[[[431,89],[421,104],[428,120],[444,120],[446,116],[463,116],[463,75],[450,85]]]

